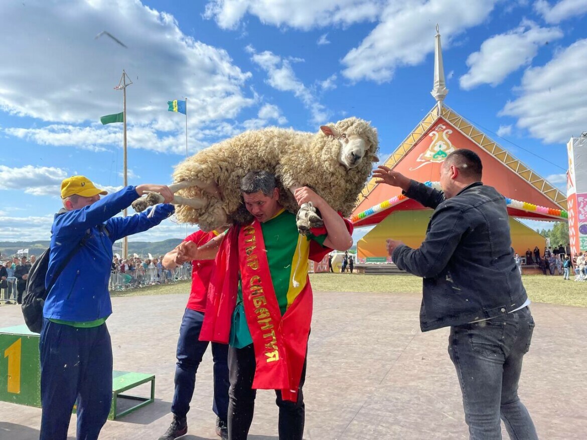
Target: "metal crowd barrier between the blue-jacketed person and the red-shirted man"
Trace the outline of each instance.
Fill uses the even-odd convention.
[[[108,290],[138,289],[139,287],[174,283],[178,280],[191,280],[191,270],[191,264],[178,266],[175,269],[136,268],[126,272],[113,270],[110,272]]]

